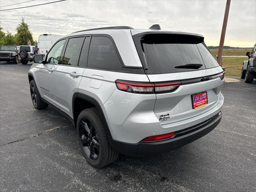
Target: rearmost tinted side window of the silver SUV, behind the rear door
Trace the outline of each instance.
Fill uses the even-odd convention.
[[[110,38],[92,36],[87,66],[106,70],[120,70],[122,68],[122,64]]]

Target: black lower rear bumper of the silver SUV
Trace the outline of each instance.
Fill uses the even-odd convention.
[[[200,124],[178,131],[177,137],[172,139],[156,142],[139,142],[136,144],[110,140],[110,144],[114,150],[121,154],[138,157],[154,156],[156,154],[176,150],[201,138],[211,132],[220,123],[221,118],[222,114],[217,114]]]

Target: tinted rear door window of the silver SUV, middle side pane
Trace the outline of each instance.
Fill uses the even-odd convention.
[[[78,60],[81,48],[84,42],[84,37],[70,38],[66,47],[62,64],[64,65],[78,65]]]

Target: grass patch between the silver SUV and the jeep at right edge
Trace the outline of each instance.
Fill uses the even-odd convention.
[[[226,76],[240,77],[243,62],[248,58],[243,57],[222,57],[222,67],[226,68]]]

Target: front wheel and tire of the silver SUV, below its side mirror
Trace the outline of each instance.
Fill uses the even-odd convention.
[[[48,104],[42,101],[34,80],[30,81],[30,95],[35,109],[40,110],[48,107]]]

